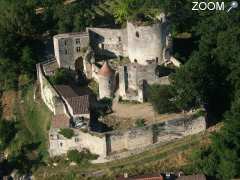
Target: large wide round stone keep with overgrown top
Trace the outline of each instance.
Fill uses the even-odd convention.
[[[131,62],[141,65],[163,62],[167,25],[165,19],[150,26],[127,23],[128,55]]]

